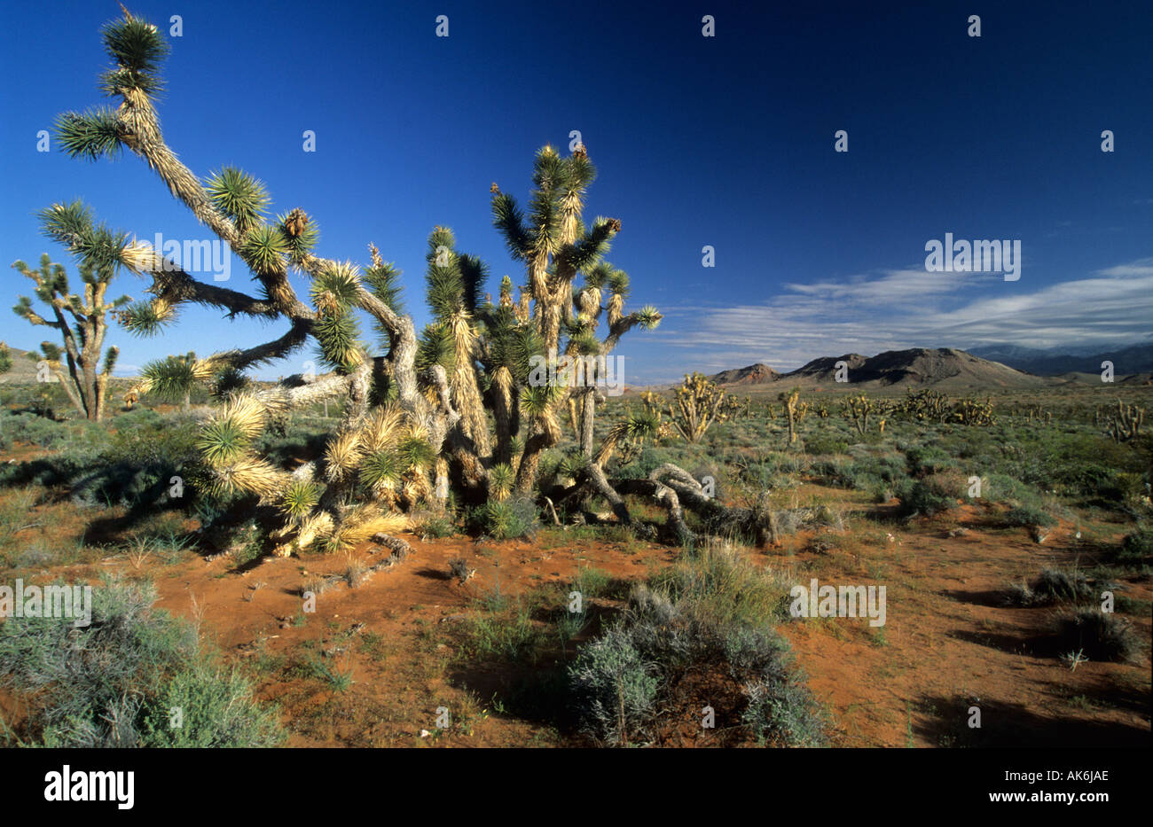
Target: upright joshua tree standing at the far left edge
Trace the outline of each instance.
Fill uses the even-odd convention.
[[[45,214],[42,219],[45,222],[51,220]],[[28,296],[21,296],[13,311],[33,325],[54,327],[60,332],[63,349],[53,342],[42,343],[43,361],[60,380],[76,410],[88,419],[98,420],[104,417],[108,377],[120,352],[110,347],[104,354],[104,366],[100,366],[100,349],[108,328],[107,314],[131,301],[128,296],[113,302],[105,302],[104,298],[118,264],[110,252],[125,243],[125,238],[105,227],[93,226],[86,212],[77,212],[75,219],[75,235],[69,246],[80,257],[84,295],[71,293],[63,266],[53,264],[44,253],[39,270],[32,270],[23,261],[12,266],[32,280],[36,297],[52,309],[51,316],[45,318],[37,313]]]

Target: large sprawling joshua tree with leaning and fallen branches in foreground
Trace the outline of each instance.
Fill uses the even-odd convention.
[[[194,490],[239,496],[238,510],[270,529],[273,551],[288,554],[312,545],[339,548],[369,537],[394,552],[405,544],[390,533],[406,514],[427,503],[504,507],[508,496],[537,492],[541,454],[559,439],[558,410],[570,397],[581,404],[582,460],[549,502],[579,503],[603,495],[617,518],[638,529],[618,487],[649,495],[669,513],[679,539],[692,538],[680,498],[702,513],[706,526],[759,524],[763,515],[733,509],[701,494],[700,484],[675,465],[646,480],[610,480],[616,449],[661,432],[658,417],[626,416],[591,450],[595,396],[587,370],[633,327],[656,326],[653,308],[626,313],[628,279],[604,261],[617,219],[582,220],[594,168],[583,146],[563,158],[550,146],[535,160],[527,215],[511,195],[491,187],[493,222],[510,252],[526,266],[527,283],[513,297],[507,276],[499,299],[481,301],[485,265],[460,252],[451,230],[437,227],[428,244],[427,298],[432,321],[417,335],[400,304],[400,273],[368,245],[369,264],[319,258],[312,252],[317,222],[302,208],[266,217],[269,195],[251,175],[226,167],[196,177],[168,147],[155,108],[167,44],[127,10],[107,24],[104,41],[114,61],[101,89],[116,108],[66,113],[60,144],[73,157],[98,159],[127,149],[141,157],[197,219],[234,250],[251,271],[257,295],[201,282],[148,243],[127,235],[101,243],[108,265],[151,280],[150,298],[126,308],[120,321],[135,334],[153,334],[175,320],[181,305],[223,310],[229,318],[287,323],[264,344],[225,350],[188,365],[196,378],[231,388],[227,404],[202,428],[199,478]],[[76,203],[45,212],[45,229],[80,252],[93,249],[86,208]],[[309,282],[306,298],[289,270]],[[574,296],[573,284],[583,276]],[[603,293],[609,298],[601,308]],[[378,334],[376,355],[361,335],[357,313]],[[600,327],[604,313],[604,327]],[[315,342],[327,372],[296,374],[274,386],[242,387],[243,372]],[[257,438],[277,417],[312,402],[340,399],[342,415],[319,455],[302,456],[292,470],[257,453]],[[719,399],[719,397],[718,397]],[[715,411],[714,411],[715,414]],[[490,418],[491,417],[491,418]],[[706,424],[707,426],[707,424]]]

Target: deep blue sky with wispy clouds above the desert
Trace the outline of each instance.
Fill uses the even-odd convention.
[[[159,112],[184,164],[263,180],[276,212],[300,206],[318,222],[321,256],[363,263],[375,243],[404,270],[417,325],[435,225],[488,261],[493,293],[505,273],[523,280],[491,226],[489,184],[523,202],[535,150],[567,147],[575,129],[600,170],[586,215],[623,221],[609,259],[632,276],[631,306],[665,313],[618,348],[630,384],[847,351],[1150,337],[1145,2],[128,6],[164,30],[182,17]],[[77,197],[145,241],[209,237],[138,158],[36,151],[56,114],[105,103],[98,31],[116,14],[103,0],[0,12],[6,264],[48,252],[74,272],[35,213]],[[440,14],[447,38],[435,35]],[[308,129],[315,153],[302,149]],[[837,153],[842,129],[849,151]],[[945,233],[1019,240],[1020,279],[926,272],[925,245]],[[702,266],[704,245],[715,267]],[[228,286],[246,289],[233,265]],[[6,310],[25,284],[0,272],[0,339],[28,348],[44,329]],[[126,273],[113,293],[141,298],[144,287]],[[111,341],[131,372],[284,327],[187,308],[163,337],[114,329]]]

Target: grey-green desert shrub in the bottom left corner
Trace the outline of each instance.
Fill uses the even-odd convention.
[[[153,609],[149,584],[105,579],[92,622],[10,617],[0,627],[0,680],[28,692],[23,743],[44,746],[265,746],[271,712],[219,669],[191,628]],[[176,703],[173,703],[176,701]],[[181,706],[184,731],[168,730]]]

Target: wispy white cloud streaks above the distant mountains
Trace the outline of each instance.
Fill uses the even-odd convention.
[[[666,359],[670,367],[691,362],[698,370],[721,370],[760,361],[784,370],[817,356],[911,347],[1129,344],[1153,328],[1153,258],[1031,293],[1020,288],[996,274],[909,267],[789,283],[761,304],[670,309],[669,324],[649,335],[677,349]],[[668,372],[653,366],[654,373]]]

